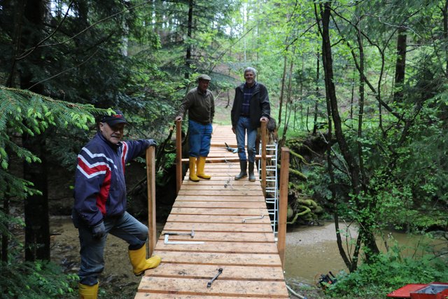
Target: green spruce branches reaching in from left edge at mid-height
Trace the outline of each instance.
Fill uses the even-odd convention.
[[[18,197],[39,193],[25,181],[10,174],[9,160],[17,156],[24,162],[41,162],[34,153],[18,145],[14,136],[43,134],[48,127],[60,129],[78,127],[87,130],[94,123],[92,113],[110,113],[88,104],[72,104],[43,97],[27,90],[6,88],[0,85],[0,198]]]

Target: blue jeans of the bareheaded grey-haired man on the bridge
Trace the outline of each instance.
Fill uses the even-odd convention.
[[[249,160],[249,162],[255,162],[255,139],[257,139],[257,128],[251,126],[251,118],[240,116],[238,119],[237,127],[235,128],[237,133],[237,146],[239,160]],[[247,155],[244,148],[244,139],[246,139],[247,131]]]

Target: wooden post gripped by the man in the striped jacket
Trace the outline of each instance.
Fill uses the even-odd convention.
[[[155,147],[146,148],[146,182],[148,185],[148,256],[153,254],[157,235],[155,229]]]

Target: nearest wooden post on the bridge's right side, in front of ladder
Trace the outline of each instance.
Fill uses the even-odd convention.
[[[285,268],[286,216],[288,214],[289,148],[281,148],[280,193],[279,193],[279,233],[277,248],[283,269]]]

